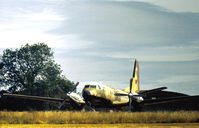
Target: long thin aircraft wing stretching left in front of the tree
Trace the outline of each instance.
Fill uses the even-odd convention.
[[[3,96],[21,98],[21,99],[29,99],[29,100],[37,100],[37,101],[47,101],[47,102],[54,102],[54,103],[62,102],[64,100],[61,98],[29,96],[29,95],[19,95],[19,94],[9,94],[9,93],[3,93]]]

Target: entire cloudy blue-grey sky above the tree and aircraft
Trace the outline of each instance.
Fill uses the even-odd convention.
[[[0,54],[44,42],[74,82],[199,94],[198,0],[1,0]]]

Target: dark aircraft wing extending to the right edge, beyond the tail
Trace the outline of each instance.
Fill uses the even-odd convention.
[[[178,96],[178,97],[169,97],[169,98],[158,98],[158,99],[146,99],[142,102],[142,105],[148,106],[153,104],[162,104],[162,103],[170,103],[176,101],[185,101],[185,100],[194,100],[199,99],[199,95],[196,96]]]

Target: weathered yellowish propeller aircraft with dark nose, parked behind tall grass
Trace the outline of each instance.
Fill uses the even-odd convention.
[[[161,92],[167,89],[167,87],[160,87],[151,90],[140,90],[139,63],[137,60],[135,60],[134,63],[133,76],[130,79],[130,85],[124,90],[119,90],[100,84],[87,84],[82,90],[82,95],[79,95],[74,92],[78,84],[79,82],[77,82],[77,84],[70,92],[66,93],[66,97],[64,99],[9,93],[4,93],[3,96],[60,103],[60,105],[58,106],[59,109],[64,104],[67,104],[78,110],[82,110],[84,108],[87,108],[88,110],[123,110],[123,108],[128,107],[128,111],[141,111],[143,107],[149,105],[199,98],[199,95],[175,96],[155,99],[148,98],[148,94]],[[61,90],[61,88],[59,89]],[[63,92],[63,90],[61,91]]]

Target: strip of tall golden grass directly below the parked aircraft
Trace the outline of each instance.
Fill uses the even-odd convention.
[[[0,111],[0,124],[197,123],[199,112]]]

